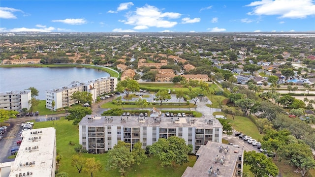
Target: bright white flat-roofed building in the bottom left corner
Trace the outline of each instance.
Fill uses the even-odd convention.
[[[8,177],[55,177],[56,130],[53,127],[27,130],[11,164]]]

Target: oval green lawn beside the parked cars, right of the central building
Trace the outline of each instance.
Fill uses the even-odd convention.
[[[213,115],[223,115],[222,112],[214,112]],[[244,134],[251,136],[256,140],[262,140],[263,135],[261,135],[256,127],[256,125],[252,122],[251,119],[243,117],[243,116],[235,116],[234,120],[231,115],[227,115],[227,119],[230,121],[232,127],[239,132],[243,132]]]

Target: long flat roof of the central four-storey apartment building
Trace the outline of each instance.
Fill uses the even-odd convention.
[[[211,124],[212,122],[212,124]],[[88,126],[159,126],[159,127],[197,127],[197,128],[221,128],[222,125],[212,115],[202,118],[177,118],[177,117],[137,117],[137,116],[97,116],[86,115],[79,123]]]

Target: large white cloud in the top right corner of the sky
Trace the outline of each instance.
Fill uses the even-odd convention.
[[[279,15],[292,19],[315,15],[314,0],[261,0],[246,6],[254,7],[248,15]]]

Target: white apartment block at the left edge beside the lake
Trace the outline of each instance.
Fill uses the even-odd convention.
[[[0,92],[0,109],[21,112],[23,108],[31,108],[31,90]]]

